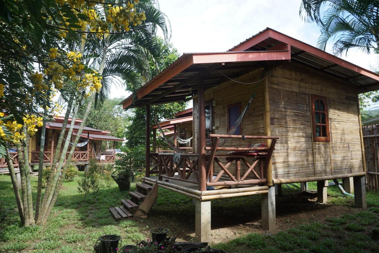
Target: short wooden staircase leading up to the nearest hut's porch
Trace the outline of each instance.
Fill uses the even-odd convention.
[[[158,185],[150,182],[136,183],[137,190],[129,191],[130,199],[121,199],[122,206],[110,207],[115,220],[130,217],[147,217],[158,196]],[[141,204],[139,204],[141,203]]]

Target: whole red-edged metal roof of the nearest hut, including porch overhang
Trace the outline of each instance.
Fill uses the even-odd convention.
[[[378,74],[266,28],[228,52],[183,54],[138,89],[135,95],[125,99],[123,108],[190,100],[197,93],[200,76],[208,89],[226,81],[226,77],[236,78],[262,68],[267,61],[283,60],[300,62],[343,78],[355,84],[361,93],[379,89]],[[133,98],[137,99],[133,101]]]

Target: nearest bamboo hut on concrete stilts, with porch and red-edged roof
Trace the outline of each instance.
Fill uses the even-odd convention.
[[[179,162],[150,153],[147,117],[144,183],[193,198],[197,239],[210,241],[212,199],[261,194],[262,228],[274,230],[282,183],[317,181],[325,202],[327,180],[352,177],[365,208],[358,94],[378,88],[378,74],[266,28],[227,52],[183,54],[123,108],[193,100],[194,152]]]

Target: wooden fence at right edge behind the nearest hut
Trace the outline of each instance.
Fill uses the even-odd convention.
[[[362,126],[366,158],[366,186],[378,191],[379,176],[379,124]]]

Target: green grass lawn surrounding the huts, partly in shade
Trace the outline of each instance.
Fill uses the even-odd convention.
[[[149,237],[154,226],[165,226],[170,234],[179,239],[190,240],[194,232],[194,206],[190,198],[160,188],[158,200],[147,220],[124,220],[116,222],[109,207],[120,206],[120,199],[127,193],[120,192],[116,183],[90,193],[85,202],[77,191],[77,179],[64,183],[52,215],[45,226],[20,227],[16,201],[8,175],[0,175],[0,251],[36,252],[92,252],[92,246],[103,234],[118,234],[122,244],[134,244]],[[33,198],[36,198],[37,178],[32,177]],[[315,183],[309,184],[315,189]],[[132,189],[135,184],[132,183]],[[341,196],[337,187],[328,187],[328,204],[352,207],[354,199]],[[378,240],[371,238],[372,229],[379,229],[379,193],[368,193],[368,210],[358,210],[325,221],[293,223],[290,228],[274,234],[238,234],[235,239],[216,244],[228,252],[296,251],[296,252],[379,252]],[[307,210],[319,204],[310,204],[299,198],[299,190],[283,186],[283,196],[276,198],[277,214],[286,213],[288,202],[298,201]],[[291,212],[300,212],[293,207]],[[337,207],[338,210],[338,207]],[[260,196],[218,199],[212,201],[212,229],[238,225],[229,219],[233,213],[240,214],[240,222],[259,222],[251,213],[260,213]],[[288,215],[291,215],[290,212]],[[178,236],[179,235],[179,236]],[[186,236],[188,235],[188,236]]]

